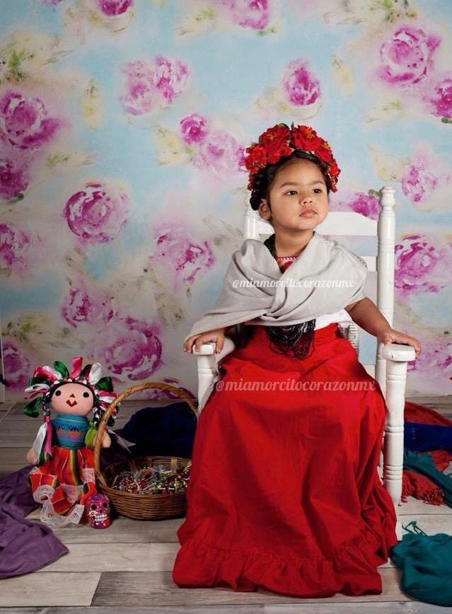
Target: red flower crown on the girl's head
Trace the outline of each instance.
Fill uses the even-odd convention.
[[[309,126],[296,126],[294,124],[276,124],[268,128],[259,137],[257,143],[253,143],[245,151],[245,167],[250,173],[248,190],[253,190],[254,177],[262,168],[269,164],[276,164],[294,151],[304,151],[312,154],[320,163],[320,166],[330,180],[332,192],[337,191],[337,177],[340,168],[337,166],[330,145],[318,136],[317,132]]]

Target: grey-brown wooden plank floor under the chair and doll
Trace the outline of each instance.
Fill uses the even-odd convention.
[[[412,398],[452,419],[452,396]],[[166,404],[164,402],[163,404]],[[117,428],[144,401],[124,402]],[[158,402],[152,402],[158,405]],[[0,404],[0,475],[24,465],[40,422],[22,414],[22,403]],[[452,469],[452,466],[449,470]],[[447,473],[447,471],[446,471]],[[452,533],[452,509],[412,497],[399,507],[402,523],[417,520],[426,533]],[[39,511],[28,516],[38,519]],[[0,612],[46,614],[431,614],[452,608],[415,601],[399,588],[400,572],[388,560],[378,571],[383,593],[300,599],[268,591],[236,593],[232,589],[180,589],[171,569],[183,519],[134,521],[119,518],[104,531],[88,526],[55,530],[69,554],[37,572],[0,580]],[[404,532],[405,533],[405,532]]]

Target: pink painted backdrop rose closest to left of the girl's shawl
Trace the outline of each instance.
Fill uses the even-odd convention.
[[[151,260],[166,269],[175,283],[192,283],[214,265],[209,243],[190,241],[185,227],[164,224],[153,232],[153,238]]]

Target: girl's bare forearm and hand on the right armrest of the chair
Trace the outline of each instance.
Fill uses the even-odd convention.
[[[394,330],[375,303],[367,297],[345,307],[350,318],[363,330],[374,335],[378,343],[405,343],[415,348],[416,358],[421,352],[421,344],[415,337],[405,335],[405,332]]]

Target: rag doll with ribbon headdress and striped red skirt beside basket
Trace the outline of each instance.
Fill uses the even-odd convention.
[[[36,465],[29,474],[33,499],[42,504],[41,520],[51,526],[79,523],[86,519],[85,504],[93,494],[95,475],[93,447],[97,429],[105,410],[117,397],[110,377],[100,377],[99,363],[83,367],[83,359],[72,360],[71,371],[59,361],[50,366],[37,366],[25,389],[25,398],[32,399],[24,408],[25,415],[37,417],[44,412],[44,424],[37,432],[28,463]],[[50,419],[50,412],[56,416]],[[93,418],[88,422],[88,415]],[[115,424],[117,407],[108,420]],[[105,429],[102,447],[110,446]]]

